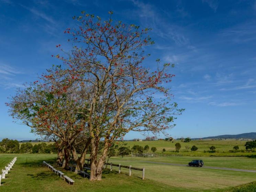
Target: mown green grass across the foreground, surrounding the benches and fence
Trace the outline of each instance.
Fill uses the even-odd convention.
[[[145,180],[142,171],[121,168],[121,174],[113,167],[113,172],[107,169],[103,173],[102,181],[90,182],[74,172],[62,170],[55,165],[56,154],[0,154],[0,169],[4,168],[13,157],[18,157],[13,169],[2,179],[0,191],[95,191],[95,192],[131,192],[131,191],[205,191],[221,192],[232,187],[253,182],[256,173],[214,170],[199,167],[171,166],[144,161],[186,164],[191,157],[112,157],[109,162],[132,167],[145,167]],[[256,169],[255,159],[247,157],[200,157],[207,166]],[[75,180],[74,185],[68,185],[56,174],[42,165],[43,160],[51,163],[58,170]],[[238,162],[237,162],[238,161]],[[224,164],[222,164],[224,163]],[[242,166],[242,167],[241,167]],[[109,167],[108,167],[109,168]]]

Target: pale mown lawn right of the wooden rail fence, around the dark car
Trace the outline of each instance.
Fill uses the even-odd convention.
[[[160,157],[160,158],[141,158],[141,157],[124,157],[111,158],[113,163],[121,163],[122,165],[132,165],[133,167],[145,167],[146,169],[146,178],[171,187],[180,187],[186,188],[190,191],[223,191],[225,188],[235,187],[240,184],[249,183],[255,181],[256,173],[249,172],[240,172],[240,171],[225,171],[225,170],[214,170],[200,167],[188,167],[188,166],[172,166],[172,165],[163,165],[157,164],[157,162],[167,162],[167,163],[179,163],[181,162],[188,163],[187,160],[189,157]],[[210,162],[214,165],[213,162],[222,162],[223,157],[203,157],[208,158]],[[212,159],[211,159],[212,158]],[[236,167],[236,163],[232,158],[234,157],[225,157],[226,167],[230,168],[240,168]],[[240,157],[235,157],[239,159]],[[208,162],[208,160],[206,162]],[[221,161],[222,160],[222,161]],[[254,159],[241,157],[240,162],[244,165],[247,160],[250,160],[250,164],[255,162]],[[146,162],[149,161],[149,162]],[[150,161],[156,162],[151,163]],[[219,164],[221,165],[221,163]],[[208,165],[209,166],[209,165]],[[224,167],[218,166],[218,167]],[[251,169],[250,167],[247,167]],[[117,168],[116,168],[117,170]],[[128,170],[121,169],[123,172],[128,174]],[[141,177],[141,172],[133,171],[137,177]]]

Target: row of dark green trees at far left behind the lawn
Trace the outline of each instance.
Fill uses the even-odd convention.
[[[0,153],[57,153],[58,149],[55,144],[46,144],[44,142],[35,144],[22,143],[18,140],[4,138],[0,142]]]

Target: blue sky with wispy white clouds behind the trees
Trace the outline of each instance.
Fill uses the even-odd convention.
[[[63,32],[81,11],[150,27],[155,44],[144,63],[175,63],[170,71],[174,100],[186,111],[172,137],[256,132],[255,0],[0,0],[0,139],[33,139],[30,128],[13,123],[8,97],[59,61],[56,45],[71,48]],[[129,133],[125,139],[144,138]],[[163,136],[164,138],[164,136]]]

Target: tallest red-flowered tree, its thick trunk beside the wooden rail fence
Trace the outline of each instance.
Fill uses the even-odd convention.
[[[66,64],[67,81],[74,82],[70,89],[79,90],[75,98],[83,102],[76,108],[85,122],[81,130],[89,135],[85,142],[89,140],[91,145],[90,180],[101,180],[115,139],[130,131],[165,133],[175,126],[174,115],[183,111],[170,103],[168,83],[174,75],[168,69],[173,66],[157,60],[152,71],[145,67],[147,63],[142,64],[149,56],[143,47],[154,44],[147,36],[149,29],[114,23],[111,14],[106,21],[85,12],[74,17],[79,27],[64,32],[71,35],[73,48],[66,52],[67,58],[56,55]],[[54,80],[52,75],[48,78]],[[162,99],[154,95],[162,95]],[[101,140],[104,147],[99,153]]]

